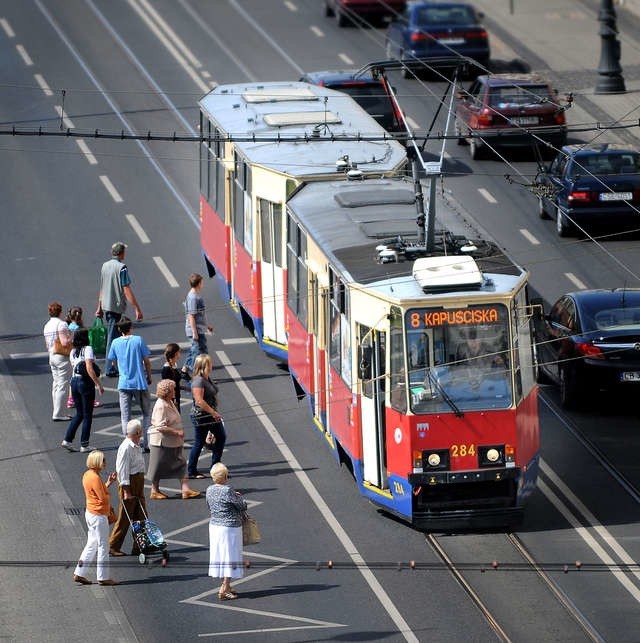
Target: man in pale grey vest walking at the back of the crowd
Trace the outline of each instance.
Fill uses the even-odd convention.
[[[100,290],[98,291],[98,307],[96,317],[105,315],[107,323],[107,345],[105,354],[109,355],[111,342],[117,337],[116,324],[127,309],[129,302],[136,313],[136,321],[142,319],[142,309],[138,305],[136,296],[131,289],[129,270],[124,263],[124,253],[127,244],[116,241],[111,246],[111,259],[102,264],[100,271]],[[107,357],[104,364],[104,373],[107,377],[116,377],[118,371]]]

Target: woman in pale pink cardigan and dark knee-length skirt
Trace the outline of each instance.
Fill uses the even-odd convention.
[[[168,496],[160,491],[161,478],[178,478],[182,484],[184,499],[199,498],[199,491],[189,489],[187,463],[182,455],[184,431],[182,418],[174,403],[176,384],[173,380],[160,380],[156,388],[157,400],[151,413],[149,427],[149,468],[151,500],[165,500]]]

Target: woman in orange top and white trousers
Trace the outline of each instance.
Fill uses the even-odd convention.
[[[116,513],[111,507],[109,487],[116,479],[113,471],[105,484],[100,473],[107,466],[107,461],[102,451],[92,451],[87,456],[87,471],[82,476],[82,486],[86,498],[87,544],[80,554],[78,565],[73,571],[73,580],[81,585],[91,585],[91,581],[84,575],[85,566],[96,558],[97,576],[99,585],[118,585],[118,581],[109,578],[109,525],[116,520]]]

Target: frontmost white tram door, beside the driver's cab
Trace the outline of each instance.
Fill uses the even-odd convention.
[[[359,326],[358,380],[362,395],[362,459],[366,482],[383,488],[385,480],[385,339],[383,332]]]

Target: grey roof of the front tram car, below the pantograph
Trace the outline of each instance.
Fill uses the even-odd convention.
[[[425,202],[427,201],[425,193]],[[416,242],[415,191],[403,179],[366,179],[309,183],[287,202],[289,211],[326,253],[347,281],[366,284],[393,299],[424,299],[426,295],[413,279],[413,259],[378,263],[376,246],[398,235]],[[465,239],[480,234],[440,197],[436,202],[436,236],[442,229]],[[483,256],[476,263],[491,284],[482,292],[509,292],[526,271],[513,263],[489,240],[482,245]],[[463,294],[456,291],[456,294]],[[441,297],[443,293],[433,296]]]

